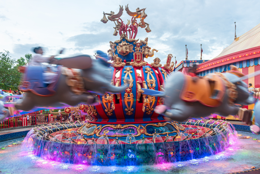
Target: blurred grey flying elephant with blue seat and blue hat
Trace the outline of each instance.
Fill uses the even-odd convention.
[[[125,87],[115,87],[111,83],[111,72],[108,69],[107,55],[97,52],[97,60],[88,55],[63,58],[55,64],[59,73],[54,83],[42,82],[40,66],[27,66],[24,70],[22,92],[23,99],[15,104],[16,109],[29,111],[34,107],[59,107],[60,105],[76,106],[79,103],[91,105],[95,103],[94,95],[106,92],[120,93]],[[110,65],[110,64],[109,64]]]

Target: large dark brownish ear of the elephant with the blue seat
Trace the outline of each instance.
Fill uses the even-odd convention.
[[[92,60],[89,55],[62,58],[56,63],[67,68],[88,69],[92,67]]]

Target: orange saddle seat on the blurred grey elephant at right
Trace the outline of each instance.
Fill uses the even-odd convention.
[[[185,75],[185,84],[180,98],[185,102],[200,102],[209,107],[219,106],[225,94],[225,82],[216,74],[207,77]]]

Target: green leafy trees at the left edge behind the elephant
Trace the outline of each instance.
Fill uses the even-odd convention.
[[[25,59],[21,57],[16,61],[9,56],[9,51],[0,52],[0,89],[18,90],[22,75],[18,68],[28,63],[30,57],[31,54],[26,54]]]

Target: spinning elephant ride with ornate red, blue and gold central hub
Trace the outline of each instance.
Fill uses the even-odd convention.
[[[209,125],[209,121],[196,122],[197,126],[181,122],[213,113],[235,115],[241,105],[255,102],[241,80],[244,75],[236,67],[227,73],[198,77],[174,72],[172,54],[168,54],[164,66],[158,57],[153,63],[147,63],[145,58],[153,57],[154,51],[158,50],[151,50],[148,38],[135,39],[140,28],[146,27],[146,32],[151,32],[149,24],[144,22],[147,17],[145,9],[137,8],[131,12],[127,5],[125,10],[132,19],[126,24],[120,18],[123,6],[120,6],[118,14],[113,11],[103,13],[101,21],[114,21],[113,35],[119,33],[120,36],[119,40],[109,42],[108,56],[98,51],[96,60],[82,55],[56,61],[59,69],[57,80],[47,87],[42,82],[42,67],[24,67],[20,89],[26,94],[13,104],[17,113],[35,108],[65,108],[64,112],[76,116],[90,115],[93,119],[80,128],[66,130],[68,135],[72,134],[71,138],[82,136],[86,143],[98,139],[98,144],[101,138],[105,144],[115,138],[115,142],[122,144],[139,143],[135,139],[141,139],[140,143],[148,140],[161,143],[163,139],[168,142],[171,136],[174,137],[172,141],[178,141],[202,138],[206,133],[214,135],[213,124]],[[113,62],[108,63],[109,59]],[[8,111],[2,109],[2,112],[6,116]],[[215,123],[222,131],[230,128],[224,121]],[[40,141],[65,134],[64,130],[53,134],[45,130],[45,133],[45,140]],[[157,141],[156,137],[160,135],[164,137]],[[60,141],[67,141],[66,136],[61,136]]]

